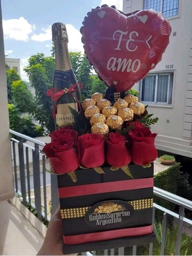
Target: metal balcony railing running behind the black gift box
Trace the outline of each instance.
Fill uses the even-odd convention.
[[[49,164],[41,154],[45,143],[26,135],[10,130],[12,145],[12,161],[15,194],[22,198],[23,204],[32,206],[36,216],[41,221],[49,221],[52,212],[59,204],[57,194],[57,179],[55,175],[46,172]],[[178,212],[171,211],[154,203],[153,220],[155,211],[163,212],[162,238],[160,244],[160,255],[164,255],[167,217],[172,216],[177,220],[177,237],[175,255],[180,255],[183,224],[187,223],[192,227],[192,221],[185,218],[185,209],[192,210],[192,201],[169,193],[158,187],[154,187],[154,195],[178,206]],[[153,243],[149,244],[149,255],[153,255]],[[124,255],[124,247],[99,252],[99,255]],[[97,255],[97,251],[83,252],[82,255]],[[137,255],[137,245],[133,246],[132,255]]]

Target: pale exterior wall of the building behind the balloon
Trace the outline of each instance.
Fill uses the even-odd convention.
[[[142,10],[143,2],[143,0],[124,0],[123,12]],[[179,15],[166,18],[172,27],[169,45],[162,60],[151,71],[155,73],[174,72],[172,105],[149,104],[147,109],[148,112],[159,117],[158,123],[153,125],[153,131],[159,134],[156,141],[159,140],[162,144],[162,140],[173,142],[175,138],[178,148],[187,145],[187,148],[183,150],[189,151],[192,157],[192,1],[180,0],[179,2]],[[176,35],[174,35],[175,32]],[[166,69],[166,65],[169,67],[173,65],[173,69]],[[139,90],[139,83],[135,84],[134,89]],[[159,149],[167,150],[167,144],[164,147],[160,146]]]

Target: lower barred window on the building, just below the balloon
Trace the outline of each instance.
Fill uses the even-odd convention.
[[[174,73],[151,73],[140,83],[140,100],[152,104],[172,104]]]

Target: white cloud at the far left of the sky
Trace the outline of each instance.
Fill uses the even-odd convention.
[[[3,30],[5,38],[27,41],[29,34],[35,30],[35,26],[30,24],[24,17],[18,19],[3,20]]]

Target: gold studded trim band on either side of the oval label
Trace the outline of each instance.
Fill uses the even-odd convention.
[[[141,210],[153,207],[153,198],[140,199],[128,201],[134,210]],[[69,209],[61,209],[61,219],[71,219],[71,218],[80,218],[86,215],[86,212],[91,208],[91,206],[86,207],[78,207],[78,208],[69,208]]]

